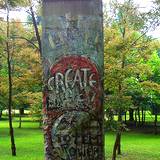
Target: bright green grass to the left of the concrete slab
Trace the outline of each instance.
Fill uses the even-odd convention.
[[[39,123],[25,118],[22,128],[14,119],[17,156],[11,156],[8,121],[0,120],[0,160],[44,160],[43,133]]]

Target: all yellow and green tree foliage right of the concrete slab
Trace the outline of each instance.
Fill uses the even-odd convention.
[[[159,106],[159,41],[147,36],[146,17],[133,1],[112,3],[104,27],[104,88],[106,120],[129,108]],[[153,98],[156,97],[156,98]],[[110,117],[109,117],[110,116]],[[118,121],[121,121],[120,118]],[[114,122],[113,122],[114,123]],[[121,124],[120,124],[121,125]]]

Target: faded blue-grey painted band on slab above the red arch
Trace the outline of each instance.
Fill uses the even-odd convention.
[[[101,22],[101,17],[93,17],[86,15],[69,16],[66,15],[56,17],[52,16],[51,20],[55,26],[53,29],[50,25],[46,27],[45,34],[45,53],[46,56],[51,56],[54,52],[56,55],[63,54],[78,54],[78,55],[91,55],[90,58],[102,63],[102,27],[97,23]],[[49,18],[48,18],[49,19]],[[48,20],[48,21],[51,21]],[[58,22],[58,23],[57,23]],[[89,23],[88,23],[89,22]],[[96,30],[96,32],[95,32]],[[65,53],[64,53],[65,51]]]

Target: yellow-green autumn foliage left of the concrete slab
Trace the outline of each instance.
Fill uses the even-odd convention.
[[[13,21],[15,22],[15,21]],[[5,37],[5,23],[2,23],[0,30],[1,36]],[[40,113],[41,107],[41,86],[42,73],[40,57],[37,50],[25,39],[17,38],[25,36],[31,39],[33,28],[26,28],[21,23],[10,23],[10,53],[12,68],[12,87],[13,87],[13,108],[22,108],[24,105],[31,108],[38,108],[37,114]],[[31,40],[32,41],[32,40]],[[34,39],[32,41],[34,43]],[[5,38],[2,41],[0,51],[0,99],[3,103],[1,106],[6,107],[8,103],[8,70],[7,57],[5,53]],[[3,107],[3,108],[4,108]],[[35,112],[35,111],[34,111]]]

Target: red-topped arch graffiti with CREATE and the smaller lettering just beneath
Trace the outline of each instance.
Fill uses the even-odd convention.
[[[81,56],[66,56],[51,68],[48,110],[90,110],[99,98],[96,66]],[[97,100],[99,102],[99,100]]]

